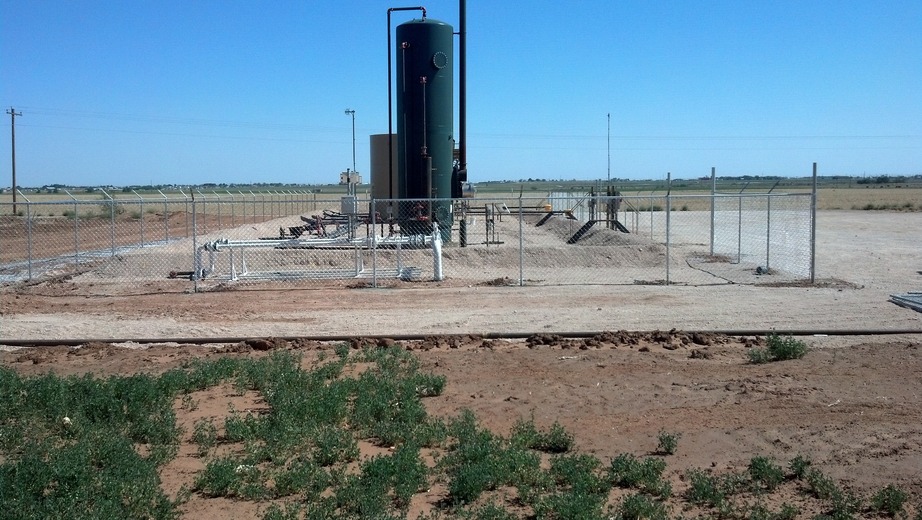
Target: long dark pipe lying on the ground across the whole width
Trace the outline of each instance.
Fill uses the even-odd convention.
[[[579,331],[579,332],[550,332],[542,331],[541,334],[560,336],[566,339],[592,338],[612,331]],[[631,331],[638,334],[649,334],[661,331]],[[724,336],[768,336],[777,334],[781,336],[891,336],[891,335],[922,335],[922,329],[727,329],[727,330],[683,330],[685,334],[721,334]],[[442,337],[476,336],[483,339],[528,339],[536,332],[478,332],[474,334],[444,334]],[[395,341],[422,341],[433,337],[432,334],[328,334],[311,336],[273,336],[281,341],[349,341],[355,338],[368,340],[392,339]],[[68,338],[68,339],[4,339],[0,344],[9,347],[77,347],[88,343],[136,343],[151,345],[159,343],[179,343],[191,345],[209,345],[219,343],[241,343],[253,339],[262,339],[259,336],[224,336],[211,338]]]

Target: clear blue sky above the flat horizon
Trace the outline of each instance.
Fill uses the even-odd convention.
[[[18,184],[333,183],[352,166],[346,108],[367,174],[368,135],[387,131],[386,12],[407,5],[0,0]],[[457,30],[457,1],[421,5]],[[615,178],[922,173],[918,0],[467,9],[475,182],[604,179],[607,114]]]

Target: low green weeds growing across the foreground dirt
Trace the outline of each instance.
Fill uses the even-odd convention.
[[[773,357],[797,351],[777,341]],[[556,421],[520,418],[502,435],[470,410],[433,417],[424,400],[441,395],[446,380],[422,372],[412,353],[339,345],[333,354],[311,369],[276,351],[192,361],[159,376],[21,377],[0,368],[0,516],[175,519],[184,500],[222,497],[260,502],[268,520],[406,518],[434,488],[440,498],[416,518],[659,520],[695,508],[700,518],[792,520],[804,504],[835,519],[918,511],[895,486],[870,497],[843,490],[799,455],[787,465],[754,457],[726,474],[669,473],[664,456],[675,453],[676,432],[660,432],[655,456],[602,461]],[[183,436],[176,410],[196,410],[193,393],[218,385],[258,393],[265,409],[231,408]],[[159,471],[182,438],[204,468],[171,498]],[[376,454],[363,455],[371,445]],[[768,500],[779,492],[796,505]]]

